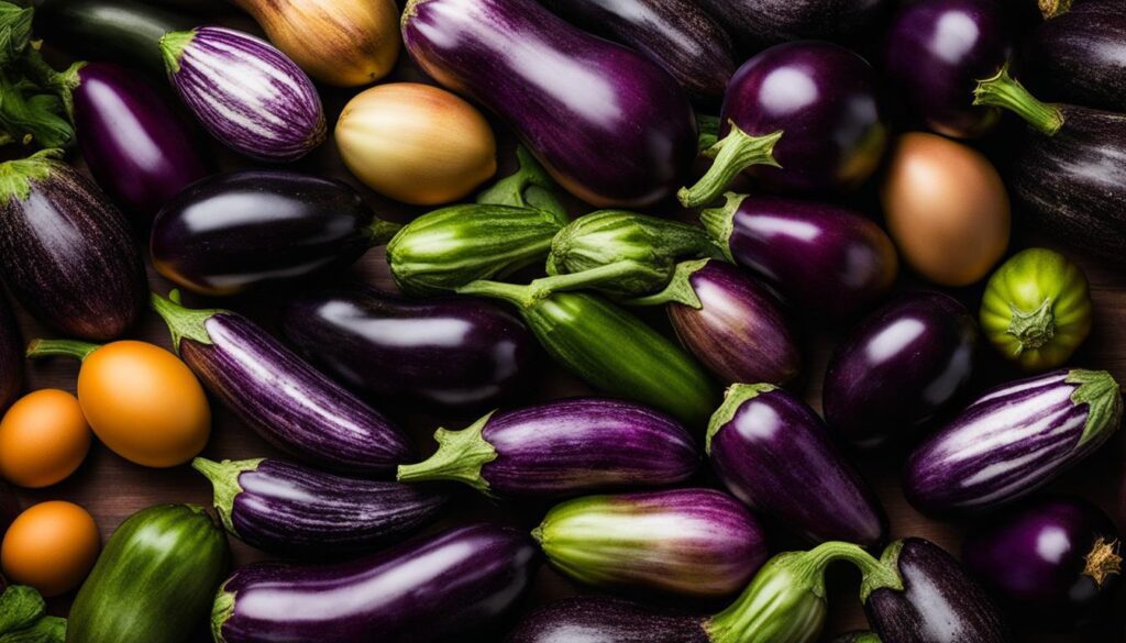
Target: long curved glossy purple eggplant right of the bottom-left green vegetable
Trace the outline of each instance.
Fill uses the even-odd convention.
[[[520,604],[535,544],[470,525],[332,565],[254,563],[220,588],[212,632],[223,643],[426,643],[465,638]]]

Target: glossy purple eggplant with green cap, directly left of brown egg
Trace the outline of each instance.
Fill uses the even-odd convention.
[[[815,315],[840,320],[866,310],[899,274],[887,233],[834,205],[729,194],[700,222],[730,260]]]

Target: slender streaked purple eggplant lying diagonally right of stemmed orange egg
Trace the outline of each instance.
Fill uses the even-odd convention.
[[[412,459],[395,425],[247,318],[155,294],[152,305],[200,382],[276,446],[330,471],[368,475]]]

